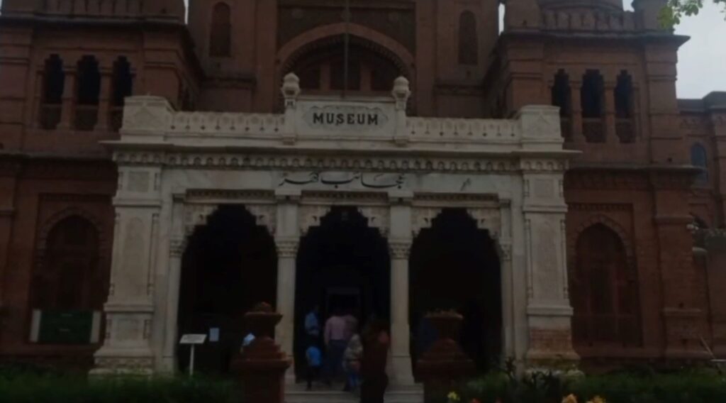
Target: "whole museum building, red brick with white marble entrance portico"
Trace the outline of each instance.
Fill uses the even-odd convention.
[[[387,319],[396,383],[436,309],[481,370],[726,356],[726,93],[665,1],[347,3],[3,1],[0,362],[227,373],[261,301],[295,363]]]

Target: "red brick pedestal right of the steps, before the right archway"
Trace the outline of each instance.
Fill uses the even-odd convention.
[[[457,390],[459,383],[476,372],[474,362],[461,350],[457,340],[462,316],[455,312],[436,312],[426,317],[439,332],[417,362],[417,372],[424,383],[424,401],[446,402],[446,395]]]

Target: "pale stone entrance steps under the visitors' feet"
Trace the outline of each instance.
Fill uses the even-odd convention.
[[[287,386],[285,403],[358,403],[359,396],[338,388],[316,388],[306,391],[303,386]],[[423,403],[423,386],[391,386],[386,391],[386,403]]]

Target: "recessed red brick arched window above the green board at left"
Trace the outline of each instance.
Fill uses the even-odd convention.
[[[49,232],[41,266],[36,269],[33,308],[60,311],[99,311],[105,289],[99,272],[96,227],[70,216]]]

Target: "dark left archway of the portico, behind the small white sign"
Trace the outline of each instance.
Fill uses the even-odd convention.
[[[266,227],[242,205],[222,205],[197,227],[181,261],[179,334],[207,334],[197,346],[195,368],[229,372],[240,350],[243,316],[258,302],[274,304],[277,251]],[[180,346],[179,367],[189,365],[188,347]]]

